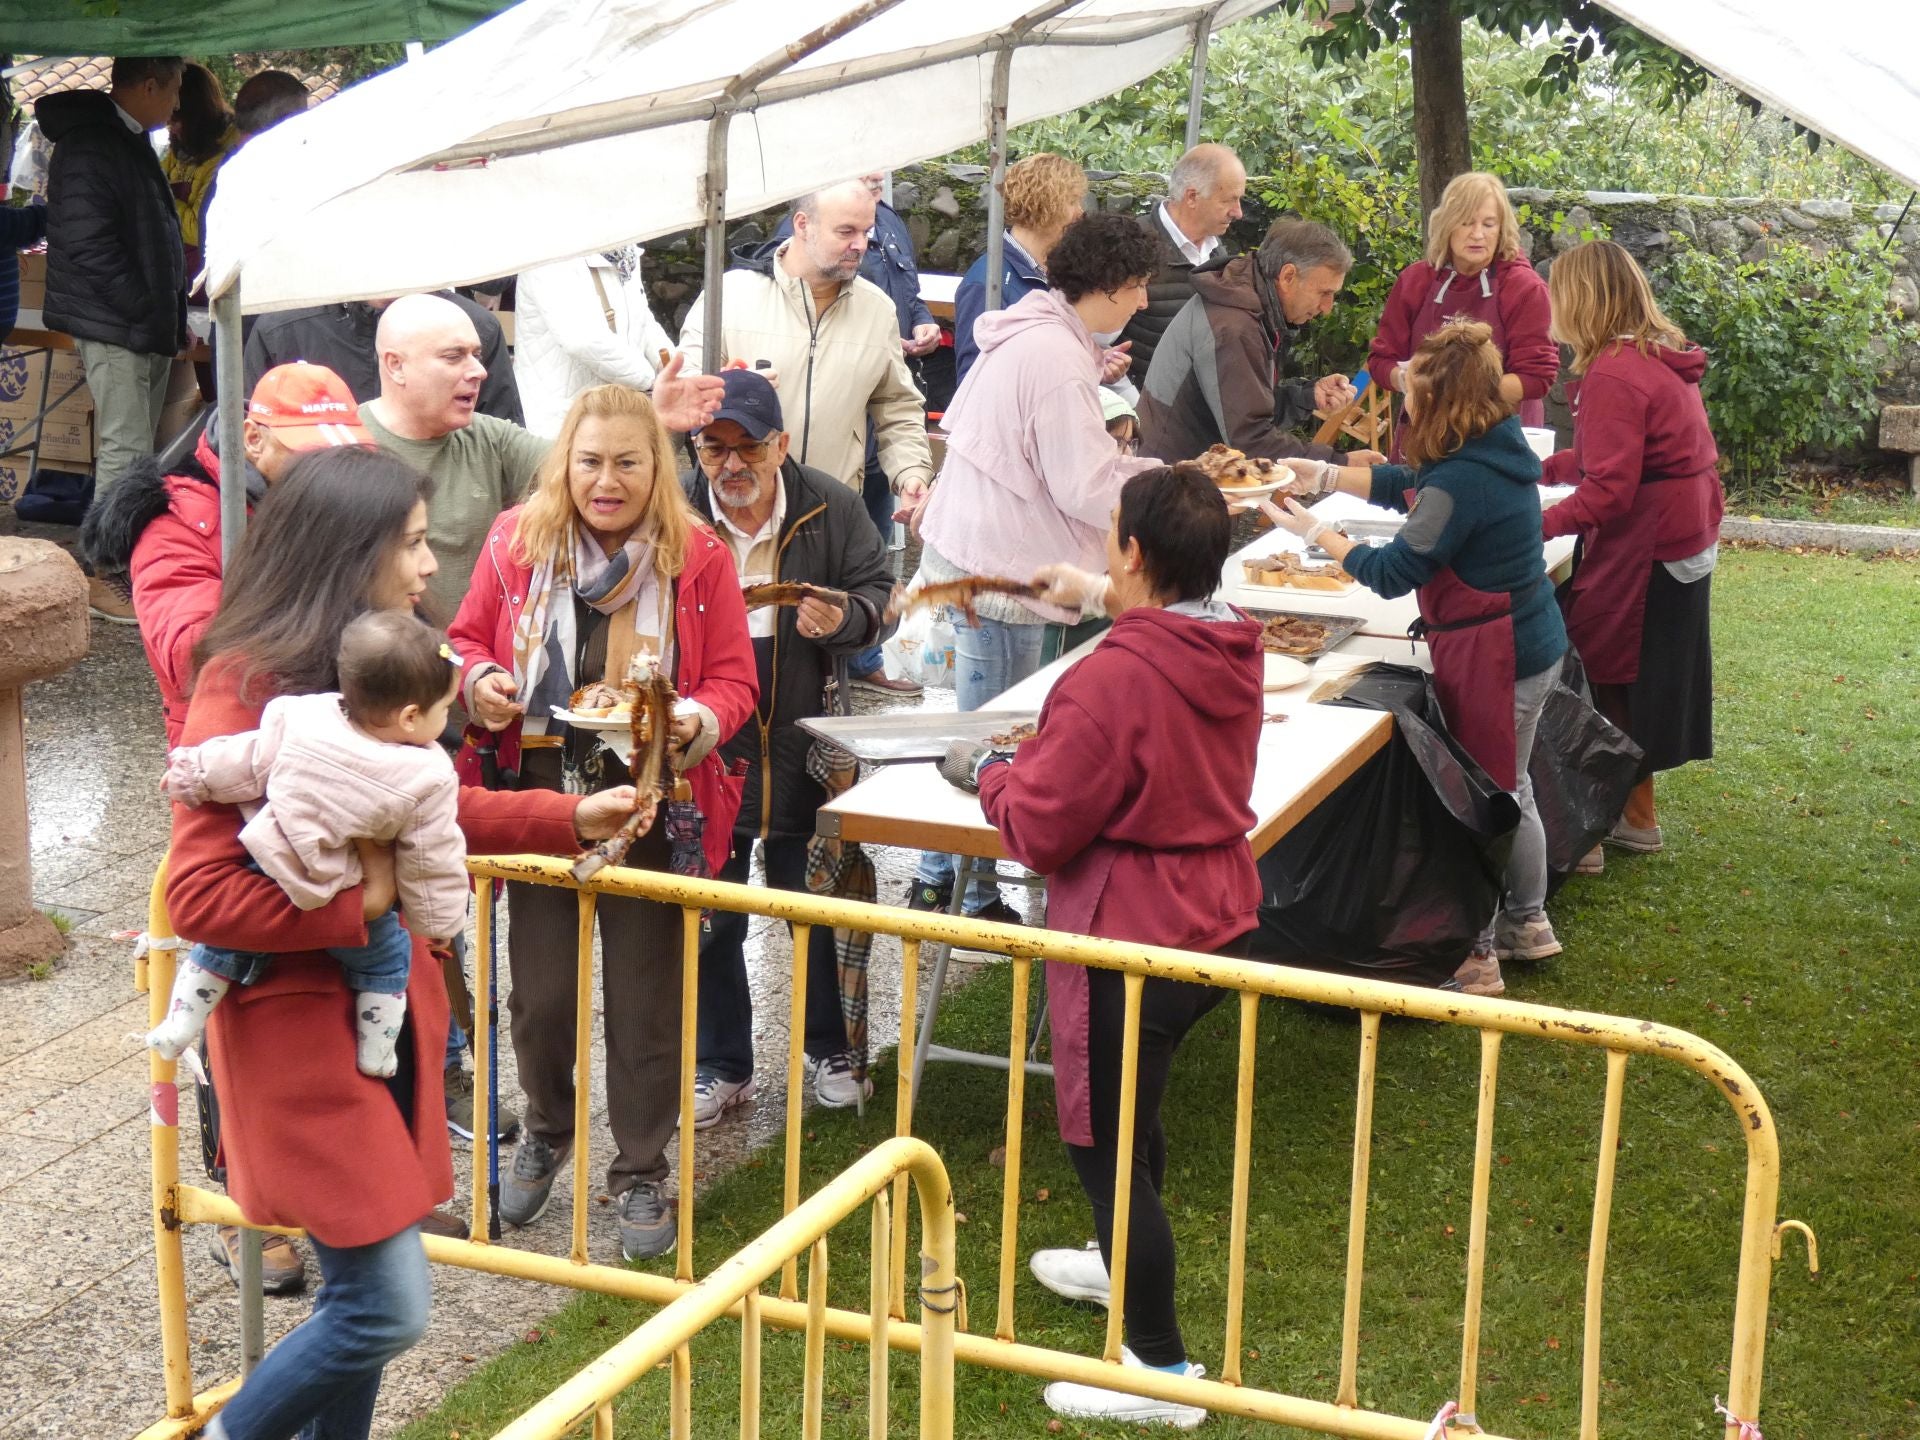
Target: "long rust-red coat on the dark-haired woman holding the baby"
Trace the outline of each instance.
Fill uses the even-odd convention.
[[[259,712],[240,697],[232,670],[215,666],[194,691],[186,741],[252,730]],[[476,852],[572,854],[578,804],[580,797],[551,791],[463,789],[461,829]],[[207,945],[275,954],[267,977],[234,987],[207,1025],[228,1190],[253,1221],[303,1225],[332,1246],[384,1240],[453,1194],[440,966],[415,939],[409,1127],[386,1083],[355,1068],[353,996],[340,964],[321,952],[367,943],[359,885],[319,910],[296,910],[248,860],[234,806],[173,806],[173,927]]]

